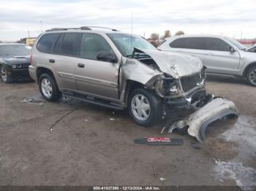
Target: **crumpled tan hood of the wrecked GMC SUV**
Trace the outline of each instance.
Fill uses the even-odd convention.
[[[203,64],[200,59],[190,55],[181,55],[160,50],[137,50],[151,56],[162,72],[170,74],[174,78],[189,76],[203,69]]]

